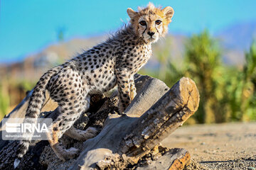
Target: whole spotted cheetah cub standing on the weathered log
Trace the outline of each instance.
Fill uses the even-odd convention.
[[[58,102],[60,112],[53,121],[53,140],[49,140],[60,159],[73,159],[78,155],[78,149],[65,149],[58,142],[63,134],[76,140],[87,140],[97,134],[94,128],[83,131],[73,127],[80,114],[89,108],[91,94],[102,94],[117,85],[119,112],[127,108],[136,96],[134,74],[149,60],[151,43],[167,33],[174,10],[170,6],[156,8],[149,3],[146,8],[138,8],[138,11],[128,8],[127,13],[130,23],[125,28],[105,42],[50,69],[34,88],[26,118],[38,118],[45,101],[45,91],[48,90],[50,98]],[[20,142],[15,166],[26,154],[30,142]]]

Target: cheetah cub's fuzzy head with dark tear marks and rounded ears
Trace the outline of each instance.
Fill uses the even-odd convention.
[[[127,9],[131,18],[131,24],[136,33],[146,43],[156,42],[159,38],[164,37],[168,30],[168,24],[174,15],[174,9],[170,6],[166,8],[156,8],[149,2],[146,8],[138,8],[138,12]]]

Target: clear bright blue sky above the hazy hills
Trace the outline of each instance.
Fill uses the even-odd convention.
[[[65,40],[114,32],[129,17],[128,7],[149,1],[0,0],[0,62],[21,60],[57,42],[59,28]],[[256,21],[255,0],[157,0],[156,6],[172,6],[169,33],[210,33],[235,23]]]

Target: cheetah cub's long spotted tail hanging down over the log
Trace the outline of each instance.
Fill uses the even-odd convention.
[[[60,69],[61,69],[61,66],[54,67],[53,69],[48,70],[48,72],[43,74],[41,79],[39,79],[38,83],[36,84],[35,88],[33,89],[32,96],[28,102],[28,108],[26,110],[25,118],[38,118],[38,115],[41,112],[43,103],[46,99],[45,92],[46,92],[46,86],[48,84],[48,81]],[[14,169],[16,169],[18,164],[21,162],[21,158],[28,151],[28,147],[29,147],[30,143],[31,143],[31,138],[19,141],[17,158],[14,161]]]

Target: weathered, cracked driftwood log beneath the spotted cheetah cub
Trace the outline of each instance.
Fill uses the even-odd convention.
[[[137,74],[137,96],[123,115],[117,114],[116,92],[110,97],[92,96],[90,110],[75,123],[85,130],[92,126],[100,133],[85,142],[63,136],[65,147],[77,147],[80,155],[60,161],[47,141],[36,142],[21,160],[18,169],[183,169],[190,155],[185,149],[167,149],[159,142],[181,126],[199,103],[196,84],[181,78],[171,89],[159,79]],[[23,118],[28,96],[7,115]],[[55,103],[46,100],[42,118],[58,116]],[[52,111],[49,111],[52,110]],[[1,130],[4,125],[1,124]],[[1,135],[1,134],[0,134]],[[13,169],[16,141],[0,140],[0,169]]]

